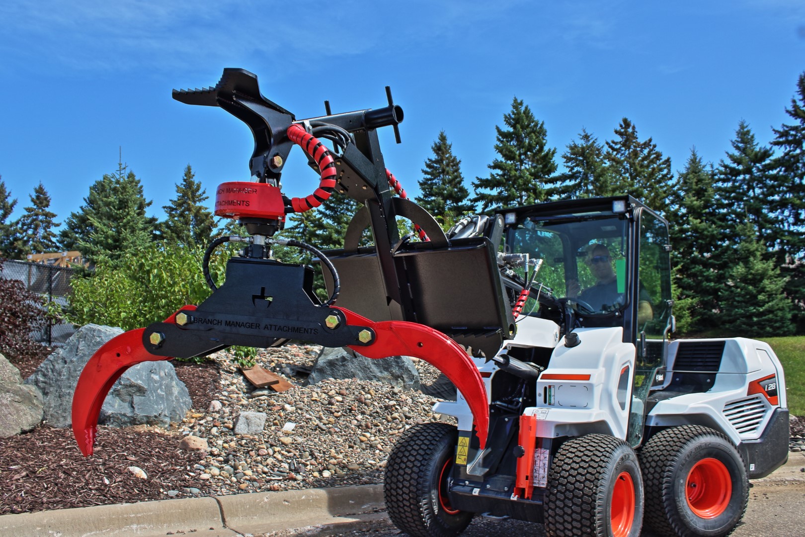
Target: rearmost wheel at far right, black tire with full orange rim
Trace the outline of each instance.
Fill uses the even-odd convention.
[[[683,425],[658,432],[640,452],[646,526],[669,537],[721,537],[741,521],[749,479],[741,454],[720,432]]]

